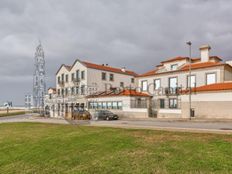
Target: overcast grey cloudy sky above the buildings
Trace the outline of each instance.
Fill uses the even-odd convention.
[[[161,60],[193,55],[232,57],[230,0],[1,0],[0,105],[23,104],[32,91],[38,39],[46,56],[47,86],[62,63],[76,58],[151,70]]]

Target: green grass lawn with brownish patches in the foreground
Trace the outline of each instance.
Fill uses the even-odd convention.
[[[232,135],[0,124],[0,173],[232,173]]]

